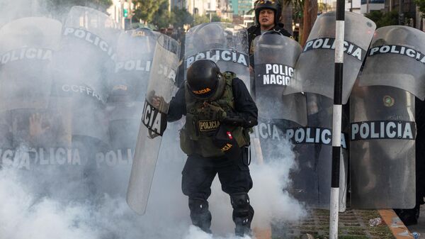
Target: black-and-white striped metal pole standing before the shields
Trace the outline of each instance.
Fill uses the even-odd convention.
[[[342,78],[344,69],[345,0],[336,1],[334,113],[332,125],[332,176],[329,239],[338,239],[339,163],[341,155]]]

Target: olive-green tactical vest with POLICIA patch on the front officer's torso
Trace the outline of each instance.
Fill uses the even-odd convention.
[[[217,91],[208,99],[213,106],[220,106],[224,111],[234,111],[234,96],[232,79],[236,74],[223,73],[224,80],[219,81]],[[204,106],[203,100],[196,99],[185,85],[186,123],[180,130],[180,147],[186,155],[198,154],[203,157],[221,157],[225,153],[218,148],[213,140],[220,127],[220,121],[215,111]],[[249,131],[241,126],[228,126],[239,147],[249,145]]]

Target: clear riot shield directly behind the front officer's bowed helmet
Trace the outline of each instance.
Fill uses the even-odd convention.
[[[251,89],[249,78],[248,35],[246,29],[231,23],[204,23],[186,33],[184,52],[186,70],[199,59],[217,63],[221,72],[234,72]]]

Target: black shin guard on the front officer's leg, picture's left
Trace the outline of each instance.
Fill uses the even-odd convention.
[[[211,213],[208,210],[208,201],[189,198],[189,209],[191,210],[192,224],[205,231],[205,233],[211,233]]]

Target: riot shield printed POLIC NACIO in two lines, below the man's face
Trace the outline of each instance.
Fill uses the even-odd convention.
[[[301,46],[280,34],[264,33],[256,40],[254,52],[256,105],[259,117],[307,124],[305,96],[283,95],[290,85]]]

